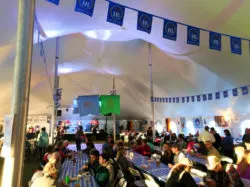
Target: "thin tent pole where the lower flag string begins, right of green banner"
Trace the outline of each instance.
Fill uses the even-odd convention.
[[[153,67],[152,67],[152,44],[148,43],[148,65],[149,65],[149,74],[150,74],[150,100],[154,97],[154,84],[153,84]],[[151,102],[151,111],[152,111],[152,128],[153,128],[153,141],[155,140],[155,110],[154,102]]]

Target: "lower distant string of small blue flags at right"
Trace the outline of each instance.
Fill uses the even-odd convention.
[[[193,95],[193,96],[182,96],[182,97],[151,97],[151,102],[156,103],[189,103],[189,102],[204,102],[204,101],[210,101],[210,100],[219,100],[223,98],[228,98],[231,94],[233,97],[237,97],[240,95],[248,95],[248,87],[238,87],[233,88],[229,90],[219,91],[215,93],[206,93],[206,94],[200,94],[200,95]]]

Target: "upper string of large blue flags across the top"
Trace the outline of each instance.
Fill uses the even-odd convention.
[[[47,0],[47,1],[54,3],[55,5],[59,5],[60,3],[60,0]],[[221,51],[222,36],[228,37],[230,39],[230,48],[233,54],[238,54],[238,55],[242,54],[242,40],[247,41],[250,47],[250,40],[247,38],[240,38],[224,33],[210,31],[199,27],[194,27],[182,22],[169,20],[157,15],[143,12],[141,10],[129,6],[124,6],[119,3],[113,2],[111,0],[106,0],[106,1],[109,2],[107,22],[119,26],[123,26],[123,20],[125,17],[126,9],[130,9],[138,13],[137,30],[146,32],[148,34],[150,34],[152,30],[153,19],[158,18],[163,20],[162,37],[168,40],[176,41],[178,37],[177,36],[178,25],[183,25],[187,28],[187,44],[189,45],[199,46],[200,32],[203,31],[209,33],[209,49],[211,50]],[[94,13],[94,8],[95,8],[95,0],[76,0],[75,12],[80,12],[92,17]]]

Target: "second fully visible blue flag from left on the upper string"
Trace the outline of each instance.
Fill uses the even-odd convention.
[[[153,16],[146,12],[138,11],[137,30],[151,33]]]

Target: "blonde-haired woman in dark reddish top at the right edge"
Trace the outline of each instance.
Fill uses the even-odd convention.
[[[241,160],[238,160],[237,171],[241,178],[250,180],[250,150],[246,150]]]

